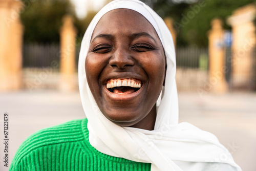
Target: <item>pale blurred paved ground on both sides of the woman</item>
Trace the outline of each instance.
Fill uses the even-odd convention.
[[[179,93],[179,106],[180,122],[190,122],[214,133],[243,170],[256,170],[256,93],[200,96],[183,92]],[[4,112],[9,114],[9,162],[18,146],[32,133],[84,117],[78,92],[1,93],[2,121]],[[3,155],[2,149],[0,155]]]

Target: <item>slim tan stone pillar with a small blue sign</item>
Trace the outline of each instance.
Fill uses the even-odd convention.
[[[213,92],[227,91],[225,80],[225,63],[223,47],[224,30],[220,19],[211,21],[211,30],[208,32],[209,39],[209,83]]]

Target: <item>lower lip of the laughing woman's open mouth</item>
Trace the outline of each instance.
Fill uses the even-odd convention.
[[[108,96],[108,98],[110,98],[113,101],[119,101],[119,102],[124,102],[124,101],[131,101],[133,100],[135,97],[137,97],[140,92],[142,91],[142,89],[144,88],[144,85],[136,92],[134,93],[129,93],[129,94],[122,94],[122,93],[112,93],[110,92],[106,86],[103,86],[104,91],[106,93],[106,96]]]

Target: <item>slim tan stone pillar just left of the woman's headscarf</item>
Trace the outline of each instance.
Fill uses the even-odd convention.
[[[60,82],[61,91],[72,91],[75,89],[75,41],[76,29],[73,18],[65,16],[62,19],[63,26],[60,29]]]

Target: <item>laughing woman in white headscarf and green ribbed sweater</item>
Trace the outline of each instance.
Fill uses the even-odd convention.
[[[163,20],[140,1],[111,2],[82,40],[78,76],[87,118],[29,137],[10,170],[240,171],[214,135],[178,123],[175,72]]]

